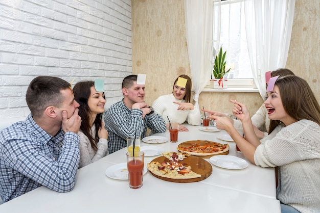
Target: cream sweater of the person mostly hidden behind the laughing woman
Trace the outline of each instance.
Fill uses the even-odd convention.
[[[268,118],[268,111],[264,104],[261,105],[255,115],[251,117],[252,124],[257,126],[258,129],[264,131],[264,137],[268,136],[270,119]],[[234,120],[233,126],[236,129],[243,129],[240,120]]]

